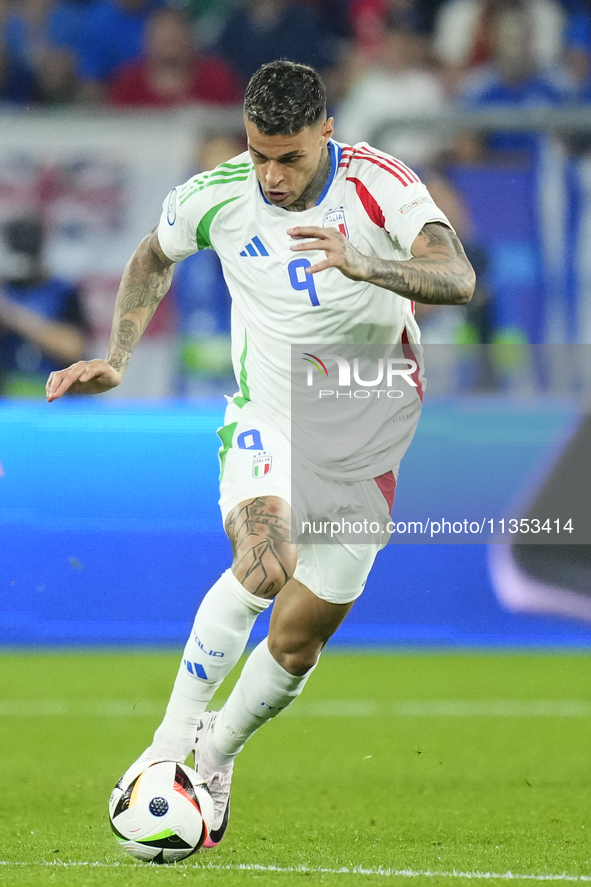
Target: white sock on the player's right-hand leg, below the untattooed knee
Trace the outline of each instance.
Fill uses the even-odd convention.
[[[210,733],[207,756],[216,766],[229,764],[259,727],[287,708],[316,668],[301,676],[289,674],[271,655],[267,640],[246,660]]]

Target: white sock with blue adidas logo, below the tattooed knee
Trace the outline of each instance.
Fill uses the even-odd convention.
[[[257,616],[272,603],[246,591],[231,570],[220,576],[197,611],[166,715],[142,758],[185,760],[200,715],[242,656]]]

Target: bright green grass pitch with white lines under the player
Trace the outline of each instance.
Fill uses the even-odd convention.
[[[107,801],[177,662],[0,655],[3,887],[591,881],[588,654],[327,652],[238,759],[220,847],[150,866]]]

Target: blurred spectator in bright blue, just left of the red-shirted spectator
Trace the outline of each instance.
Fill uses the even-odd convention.
[[[140,58],[148,17],[164,5],[164,0],[93,0],[79,48],[83,100],[102,99],[117,68]]]

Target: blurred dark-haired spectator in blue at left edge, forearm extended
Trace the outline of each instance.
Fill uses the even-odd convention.
[[[80,296],[43,266],[36,219],[4,226],[0,280],[0,393],[42,395],[48,373],[82,357],[87,331]]]

